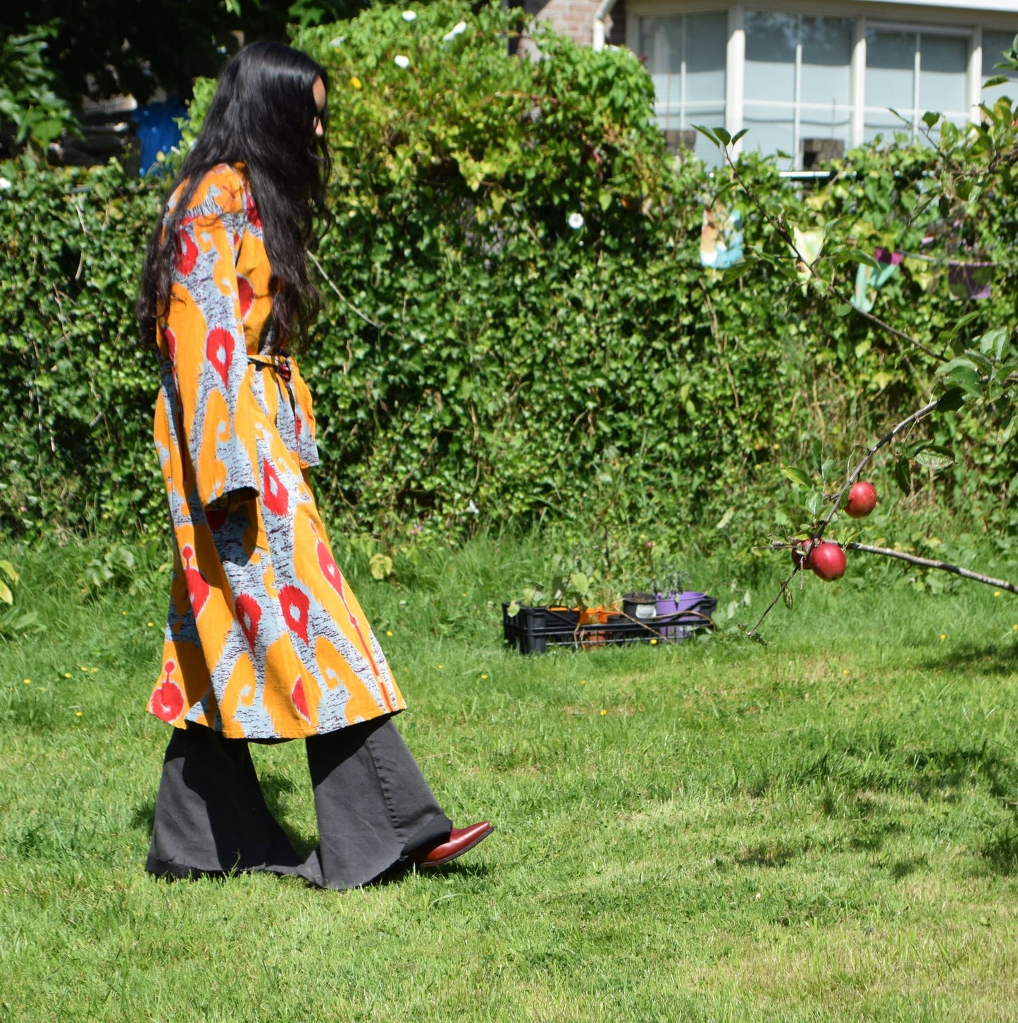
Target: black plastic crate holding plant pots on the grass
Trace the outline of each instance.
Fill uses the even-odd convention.
[[[681,642],[699,628],[713,628],[710,616],[718,607],[712,596],[674,615],[636,619],[629,615],[608,615],[607,621],[580,624],[580,612],[561,608],[520,607],[510,616],[508,602],[502,605],[502,634],[521,654],[543,654],[549,646],[595,647],[631,642]]]

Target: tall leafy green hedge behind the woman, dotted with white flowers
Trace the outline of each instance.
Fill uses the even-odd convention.
[[[507,52],[518,12],[441,0],[416,14],[376,7],[296,37],[332,79],[326,311],[302,364],[337,524],[389,537],[521,518],[679,532],[731,508],[751,539],[798,519],[782,462],[846,459],[922,403],[921,353],[801,284],[730,172],[664,151],[632,54],[545,34],[544,58],[520,59]],[[980,183],[946,204],[942,188],[930,203],[940,179],[924,174],[942,158],[929,146],[849,154],[816,192],[772,162],[739,168],[789,229],[823,225],[832,252],[920,252],[935,235],[922,249],[935,261],[907,262],[874,311],[939,345],[963,313],[972,333],[1012,322],[1018,295],[997,240],[1016,226],[1009,171],[966,152]],[[718,194],[742,208],[751,250],[727,274],[699,262]],[[18,175],[0,191],[8,533],[161,523],[155,371],[132,320],[158,199],[115,168]],[[998,261],[990,301],[953,302],[937,282],[939,256],[963,241],[965,258]],[[854,271],[824,270],[849,292]],[[929,429],[959,459],[937,501],[1013,528],[1011,449],[965,410]]]

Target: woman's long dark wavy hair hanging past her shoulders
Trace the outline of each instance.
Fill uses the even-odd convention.
[[[325,69],[282,43],[245,46],[226,65],[201,131],[188,150],[170,194],[180,186],[173,213],[166,207],[155,226],[136,307],[140,342],[155,346],[155,325],[170,309],[181,219],[201,178],[218,164],[246,165],[264,226],[272,267],[272,323],[275,344],[299,350],[318,312],[319,294],[308,276],[316,213],[328,219],[325,186],[332,163],[325,135],[315,134],[319,115],[314,86]]]

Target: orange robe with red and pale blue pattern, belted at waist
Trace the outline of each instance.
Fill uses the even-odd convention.
[[[149,710],[177,727],[298,739],[406,704],[308,486],[311,395],[273,354],[269,278],[242,168],[214,168],[182,221],[158,331],[174,576]],[[230,511],[231,494],[250,499]]]

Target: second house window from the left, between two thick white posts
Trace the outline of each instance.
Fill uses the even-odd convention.
[[[800,163],[802,139],[849,140],[854,21],[746,12],[746,145]]]

